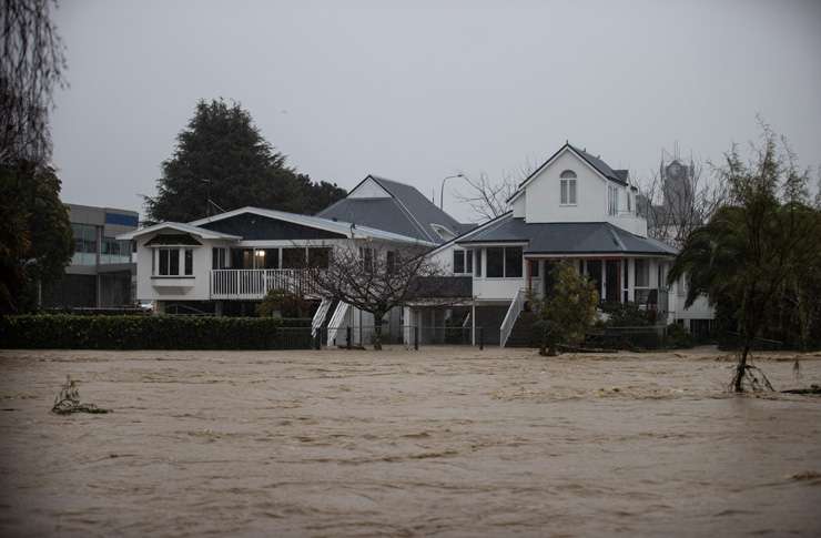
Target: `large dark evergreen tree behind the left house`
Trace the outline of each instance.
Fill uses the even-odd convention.
[[[145,209],[152,221],[175,222],[245,205],[304,213],[320,200],[315,189],[323,186],[287,166],[239,103],[201,100]],[[344,196],[337,191],[330,197]]]

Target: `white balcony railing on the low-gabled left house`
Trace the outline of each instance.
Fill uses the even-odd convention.
[[[313,295],[311,275],[304,270],[214,270],[211,298],[261,300],[271,290]]]

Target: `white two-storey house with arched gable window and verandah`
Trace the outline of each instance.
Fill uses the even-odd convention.
[[[505,345],[529,294],[549,291],[549,267],[564,260],[596,283],[601,302],[635,302],[659,323],[709,319],[699,302],[683,308],[683,287],[667,285],[677,251],[647,236],[626,170],[566,143],[510,196],[510,211],[430,252],[454,276],[470,276],[473,301],[459,308],[412,305],[412,324],[457,317]]]

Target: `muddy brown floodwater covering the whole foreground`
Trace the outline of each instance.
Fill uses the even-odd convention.
[[[720,358],[4,351],[0,535],[821,535],[821,398]]]

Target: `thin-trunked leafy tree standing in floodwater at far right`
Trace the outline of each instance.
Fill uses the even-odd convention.
[[[668,282],[686,276],[686,305],[706,294],[712,304],[732,305],[741,348],[731,386],[756,385],[750,349],[772,319],[807,252],[818,250],[817,212],[809,204],[809,173],[798,169],[785,144],[763,126],[763,142],[743,162],[737,148],[721,170],[729,199],[707,224],[692,231]]]

